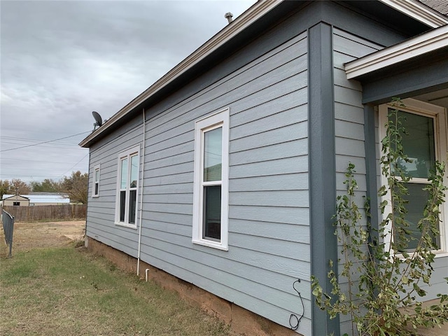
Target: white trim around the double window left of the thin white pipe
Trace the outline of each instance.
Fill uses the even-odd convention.
[[[127,222],[120,222],[120,185],[121,185],[121,159],[126,158],[129,162],[129,165],[131,164],[131,155],[137,153],[137,156],[139,158],[139,173],[137,178],[137,195],[135,200],[135,223],[130,224]],[[137,216],[139,214],[139,211],[137,211],[138,204],[139,204],[139,186],[140,186],[140,165],[141,165],[141,157],[140,157],[140,146],[135,146],[132,148],[127,149],[126,151],[121,152],[118,154],[118,160],[117,160],[117,189],[116,189],[116,204],[115,204],[115,224],[120,226],[125,226],[126,228],[132,228],[137,229]],[[130,167],[130,166],[128,166]],[[127,169],[127,181],[130,181],[130,174],[131,169]],[[129,194],[130,194],[130,188],[127,186],[126,188],[126,200],[129,200]],[[129,206],[125,205],[125,219],[126,221],[129,221]]]

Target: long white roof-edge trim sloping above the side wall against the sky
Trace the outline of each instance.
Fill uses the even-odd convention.
[[[118,120],[123,118],[127,113],[135,109],[139,104],[144,102],[146,99],[151,97],[151,95],[158,92],[162,87],[171,83],[174,79],[181,76],[182,73],[190,69],[193,65],[200,62],[202,59],[207,57],[214,52],[221,45],[232,39],[235,35],[239,34],[241,31],[244,31],[249,25],[253,22],[257,21],[266,13],[269,13],[270,10],[278,6],[284,0],[264,0],[257,1],[251,8],[248,8],[244,13],[242,13],[236,20],[232,21],[229,25],[227,25],[224,29],[218,32],[215,36],[209,39],[206,43],[204,43],[200,48],[195,50],[193,54],[184,59],[181,63],[174,66],[172,70],[170,70],[165,76],[160,78],[157,82],[155,82],[151,87],[149,87],[146,91],[139,94],[138,97],[134,98],[129,104],[127,104],[123,109],[114,114],[106,123],[104,123],[97,130],[92,132],[88,137],[86,137],[83,141],[80,142],[80,146],[86,146],[90,141],[104,133],[108,130],[113,124],[117,123]]]

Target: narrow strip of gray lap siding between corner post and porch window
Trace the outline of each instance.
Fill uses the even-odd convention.
[[[366,195],[365,148],[364,148],[364,107],[362,88],[356,80],[347,80],[344,63],[363,57],[381,49],[376,45],[353,36],[345,31],[334,29],[333,62],[335,79],[335,150],[336,150],[336,190],[337,195],[346,193],[344,181],[349,162],[356,166],[355,179],[358,183],[356,203],[361,211],[364,208],[363,196]],[[363,219],[361,225],[365,225]],[[341,248],[339,246],[339,251]],[[339,253],[339,258],[342,255]],[[339,265],[342,269],[342,265]],[[342,288],[346,288],[345,279],[340,279]],[[351,333],[348,316],[340,316],[341,335]]]

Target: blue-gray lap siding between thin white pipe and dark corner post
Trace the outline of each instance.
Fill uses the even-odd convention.
[[[160,104],[163,106],[162,104]],[[166,104],[167,105],[167,104]],[[195,120],[230,108],[229,251],[191,241]],[[307,38],[147,111],[141,259],[310,335]]]

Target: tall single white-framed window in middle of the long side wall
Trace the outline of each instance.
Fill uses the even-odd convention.
[[[195,123],[193,243],[228,249],[229,109]]]

